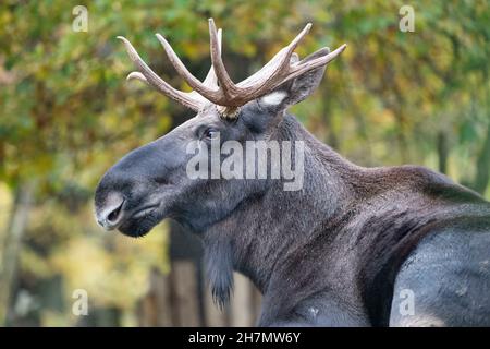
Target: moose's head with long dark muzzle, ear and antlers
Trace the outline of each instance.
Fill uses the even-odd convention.
[[[309,32],[306,27],[262,69],[234,84],[221,58],[221,29],[209,20],[212,67],[204,82],[193,76],[169,43],[158,40],[177,73],[194,88],[185,93],[171,87],[125,45],[137,79],[197,115],[164,136],[142,146],[117,163],[101,179],[95,196],[97,221],[105,229],[139,237],[166,217],[173,217],[196,232],[229,216],[243,201],[266,192],[270,180],[191,179],[186,166],[193,157],[189,142],[210,145],[219,142],[302,139],[294,130],[280,128],[286,109],[308,97],[318,86],[326,65],[346,47],[330,52],[319,49],[303,60],[294,52]],[[244,161],[246,163],[246,161]]]

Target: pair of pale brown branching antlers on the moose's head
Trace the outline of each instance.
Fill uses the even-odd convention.
[[[305,28],[291,41],[290,45],[281,49],[266,65],[258,72],[242,81],[238,84],[233,83],[224,68],[221,57],[221,29],[217,31],[215,21],[209,19],[211,69],[204,82],[200,82],[189,73],[184,63],[175,55],[170,44],[160,35],[157,38],[163,46],[166,53],[182,79],[194,88],[191,93],[185,93],[173,88],[159,77],[139,57],[133,45],[122,37],[131,60],[136,65],[138,72],[132,72],[127,79],[137,79],[146,82],[150,86],[175,101],[198,111],[208,101],[216,104],[224,118],[235,118],[237,110],[247,101],[259,98],[273,91],[281,84],[297,77],[308,71],[328,64],[338,57],[346,47],[342,45],[336,50],[322,55],[309,61],[292,60],[293,52],[299,41],[311,28],[308,23]]]

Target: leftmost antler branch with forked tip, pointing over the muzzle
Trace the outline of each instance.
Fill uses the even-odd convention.
[[[201,103],[199,100],[192,98],[188,94],[183,93],[182,91],[173,88],[168,83],[166,83],[161,77],[159,77],[139,57],[138,52],[133,47],[133,45],[130,43],[130,40],[127,40],[123,36],[118,36],[118,39],[120,39],[124,43],[127,55],[130,56],[131,60],[136,65],[136,68],[139,70],[139,72],[130,73],[127,75],[128,80],[131,80],[131,79],[140,80],[140,81],[147,83],[148,85],[155,87],[160,93],[169,96],[170,98],[174,99],[175,101],[177,101],[193,110],[197,111],[200,109]]]

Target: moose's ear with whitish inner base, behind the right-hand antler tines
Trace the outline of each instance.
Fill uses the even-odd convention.
[[[328,53],[330,53],[330,49],[324,47],[306,57],[303,62],[311,61]],[[298,60],[296,53],[291,58],[292,63],[295,63]],[[260,103],[278,109],[285,109],[302,101],[318,87],[323,77],[327,65],[322,65],[282,84],[270,94],[261,97]]]

